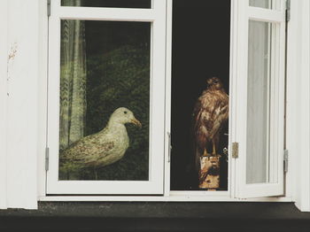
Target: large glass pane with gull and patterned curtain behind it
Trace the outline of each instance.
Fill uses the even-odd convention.
[[[60,180],[149,179],[151,23],[61,21]]]

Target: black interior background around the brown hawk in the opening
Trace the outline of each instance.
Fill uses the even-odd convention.
[[[230,1],[177,0],[173,5],[171,189],[198,189],[192,112],[206,79],[221,79],[229,94]],[[222,134],[229,134],[228,123]],[[221,136],[220,151],[228,144]],[[227,190],[228,163],[221,157],[220,189]]]

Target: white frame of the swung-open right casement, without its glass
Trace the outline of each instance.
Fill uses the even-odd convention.
[[[238,2],[238,55],[235,94],[236,97],[236,142],[239,143],[239,158],[236,159],[236,197],[272,197],[284,194],[284,89],[285,89],[285,1],[277,1],[279,10],[252,7]],[[276,42],[274,54],[271,56],[272,73],[270,93],[270,162],[273,175],[277,176],[273,183],[246,184],[246,115],[247,115],[247,76],[248,76],[248,28],[249,20],[270,22],[276,25],[272,43]],[[273,52],[272,52],[273,53]],[[277,87],[278,89],[276,89]],[[276,106],[276,107],[275,107]]]

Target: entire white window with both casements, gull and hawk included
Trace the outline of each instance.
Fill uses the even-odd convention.
[[[48,195],[283,196],[283,0],[52,0],[49,27]]]

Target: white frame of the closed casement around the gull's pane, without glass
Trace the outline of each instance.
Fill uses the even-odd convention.
[[[149,181],[59,181],[59,86],[60,86],[60,20],[141,21],[151,23],[151,89],[150,89],[150,161]],[[51,1],[48,78],[49,170],[47,194],[62,195],[159,195],[164,180],[164,116],[166,2],[153,1],[151,9],[61,6]],[[156,68],[154,68],[156,67]]]

